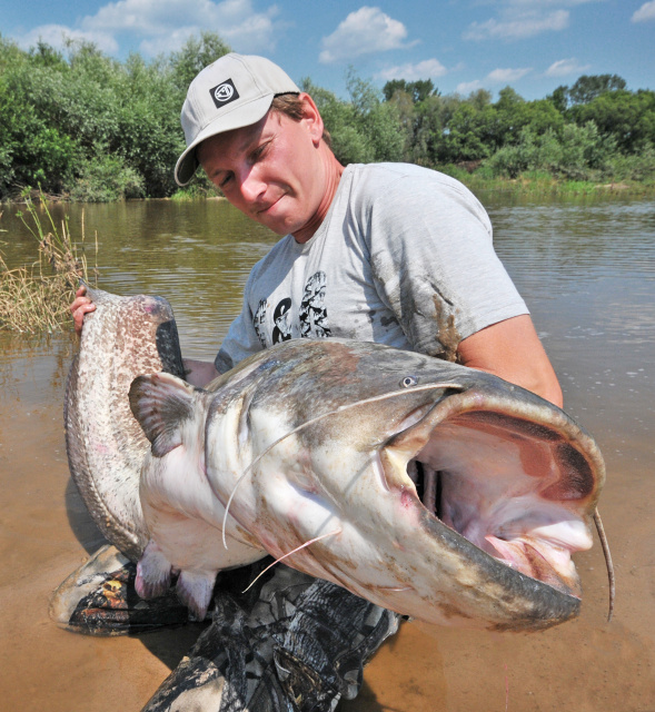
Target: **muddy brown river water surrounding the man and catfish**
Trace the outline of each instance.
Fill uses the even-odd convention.
[[[598,441],[608,481],[601,511],[617,577],[606,622],[601,547],[577,555],[578,620],[537,634],[408,623],[366,669],[341,712],[655,710],[655,202],[527,204],[483,196],[496,247],[532,309],[565,408]],[[81,233],[82,209],[58,206]],[[212,358],[250,266],[276,237],[222,201],[83,208],[98,234],[99,286],[162,294],[182,352]],[[32,239],[6,208],[10,265]],[[92,249],[90,259],[92,260]],[[48,600],[102,538],[71,484],[62,432],[70,334],[0,335],[0,710],[138,711],[198,626],[93,639],[57,629]]]

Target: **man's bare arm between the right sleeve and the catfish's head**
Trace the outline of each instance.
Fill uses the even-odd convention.
[[[465,366],[500,376],[563,406],[559,382],[527,314],[473,334],[459,343],[457,354]]]

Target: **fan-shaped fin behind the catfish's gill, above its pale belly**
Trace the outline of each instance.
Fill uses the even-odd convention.
[[[130,408],[152,454],[163,457],[182,444],[182,427],[193,417],[197,388],[167,373],[138,376],[130,386]]]

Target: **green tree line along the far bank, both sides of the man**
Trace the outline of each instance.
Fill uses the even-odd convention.
[[[29,50],[0,37],[0,199],[24,187],[73,200],[168,197],[183,150],[179,112],[196,73],[230,48],[215,33],[176,52],[118,61],[88,42]],[[353,69],[348,98],[301,81],[344,164],[409,161],[484,178],[655,178],[655,92],[616,75],[582,76],[545,99],[514,89],[443,96],[429,79],[380,91]],[[199,175],[189,191],[206,191]]]

